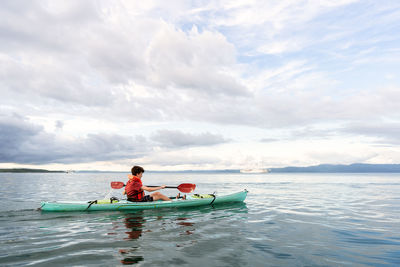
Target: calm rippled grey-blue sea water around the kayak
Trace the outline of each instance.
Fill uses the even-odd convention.
[[[95,200],[122,174],[0,174],[1,266],[398,266],[399,174],[155,174],[144,184],[249,190],[245,203],[44,213]],[[164,190],[175,195],[177,191]],[[121,190],[111,192],[122,197]]]

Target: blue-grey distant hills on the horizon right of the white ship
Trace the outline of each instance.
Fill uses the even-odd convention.
[[[287,172],[316,172],[316,173],[400,173],[400,164],[363,164],[354,163],[350,165],[332,165],[321,164],[309,167],[285,167],[285,168],[271,168],[272,173],[287,173]]]

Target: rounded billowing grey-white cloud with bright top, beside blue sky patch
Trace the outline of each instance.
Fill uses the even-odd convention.
[[[149,44],[148,62],[153,81],[200,95],[249,95],[248,89],[229,73],[235,49],[217,32],[185,33],[165,25]]]

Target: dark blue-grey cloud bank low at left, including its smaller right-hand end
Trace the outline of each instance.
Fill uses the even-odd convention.
[[[59,125],[60,122],[57,124]],[[227,142],[211,133],[191,134],[159,130],[151,140],[141,135],[88,134],[66,138],[48,133],[19,115],[0,116],[0,163],[82,163],[138,158],[151,154],[153,147],[184,148]]]

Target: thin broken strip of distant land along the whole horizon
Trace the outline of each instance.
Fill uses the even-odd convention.
[[[45,169],[0,169],[1,172],[12,173],[129,173],[119,171],[96,171],[96,170],[75,170],[75,171],[49,171]],[[239,169],[226,170],[184,170],[184,171],[156,171],[149,170],[149,173],[240,173]],[[364,164],[354,163],[350,165],[321,164],[309,167],[284,167],[268,168],[268,173],[400,173],[400,164]],[[268,175],[268,173],[265,173]]]

